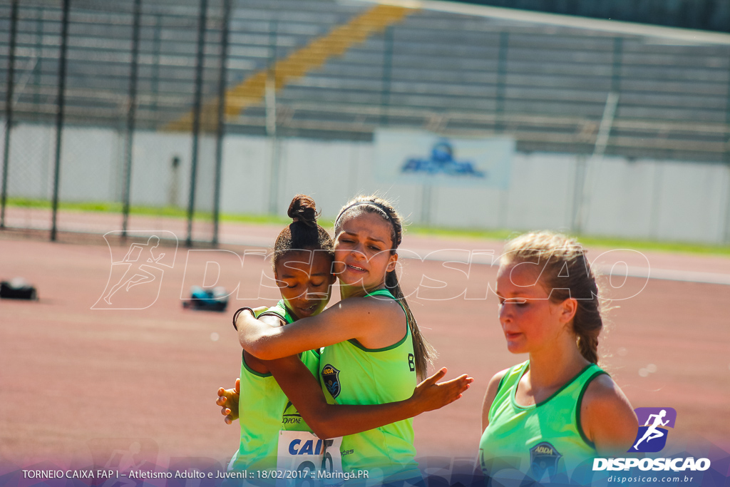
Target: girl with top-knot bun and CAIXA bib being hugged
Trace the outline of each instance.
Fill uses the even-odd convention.
[[[283,299],[257,314],[269,323],[264,325],[267,329],[269,325],[278,329],[284,324],[288,329],[295,326],[288,323],[299,325],[307,317],[318,315],[326,306],[334,284],[333,243],[326,230],[316,223],[315,203],[307,196],[298,195],[291,202],[288,214],[294,221],[277,237],[272,257],[274,277]],[[319,350],[315,347],[282,353],[276,360],[261,360],[246,350],[243,352],[240,379],[243,394],[238,406],[242,418],[241,442],[230,469],[249,472],[277,469],[277,456],[281,462],[283,456],[291,453],[289,448],[282,450],[284,442],[293,445],[295,453],[292,454],[296,456],[318,455],[323,449],[322,442],[311,434],[283,434],[281,430],[308,432],[311,428],[320,439],[363,432],[442,407],[458,399],[471,382],[462,376],[437,384],[445,374],[442,369],[418,387],[411,384],[402,397],[369,403],[375,405],[339,406],[327,403],[315,378],[319,367]],[[223,393],[219,391],[218,404],[224,406],[224,412],[231,413],[231,404]],[[309,450],[307,444],[311,445]],[[301,456],[298,460],[305,458]]]

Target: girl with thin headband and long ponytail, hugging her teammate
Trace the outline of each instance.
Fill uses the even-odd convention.
[[[319,372],[328,402],[407,399],[416,377],[426,375],[430,352],[396,276],[401,218],[383,199],[360,197],[339,212],[334,231],[334,270],[342,301],[276,328],[242,312],[239,340],[247,352],[264,359],[325,347]],[[341,453],[345,471],[368,471],[372,482],[420,479],[412,419],[348,434]]]

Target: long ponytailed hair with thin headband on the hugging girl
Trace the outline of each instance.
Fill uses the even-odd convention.
[[[354,217],[362,213],[373,213],[375,215],[379,215],[383,218],[383,221],[391,226],[391,242],[393,242],[391,255],[394,255],[398,246],[401,245],[401,240],[403,239],[403,221],[395,208],[393,208],[393,205],[379,196],[358,196],[345,204],[345,206],[342,207],[342,210],[339,211],[337,219],[334,221],[334,234],[337,235],[339,233],[339,229],[342,227],[342,221],[345,220],[345,218],[343,218],[345,215]],[[415,372],[418,379],[423,380],[426,378],[429,363],[431,363],[436,350],[434,350],[429,342],[426,342],[426,339],[424,339],[423,335],[420,333],[418,323],[415,321],[415,316],[408,306],[408,302],[401,290],[401,285],[398,282],[398,275],[396,274],[395,269],[389,271],[385,275],[385,287],[388,288],[388,291],[391,291],[393,297],[403,305],[403,309],[406,312],[406,321],[410,328],[413,340]]]

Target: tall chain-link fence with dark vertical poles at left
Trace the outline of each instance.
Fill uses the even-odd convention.
[[[180,234],[180,218],[164,217],[187,215],[188,241],[215,242],[231,2],[12,1],[0,9],[0,223],[55,239],[76,229],[73,210],[97,208],[117,212],[123,230],[142,217]],[[164,131],[174,120],[182,126]]]

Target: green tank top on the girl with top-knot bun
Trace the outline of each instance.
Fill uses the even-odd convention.
[[[285,323],[294,321],[283,301],[258,313],[277,315]],[[299,358],[317,377],[319,372],[319,350],[301,353]],[[277,445],[282,429],[311,431],[296,407],[291,404],[284,391],[271,373],[261,374],[250,369],[245,358],[241,361],[241,395],[238,403],[241,442],[234,453],[228,469],[271,470],[277,465]]]

